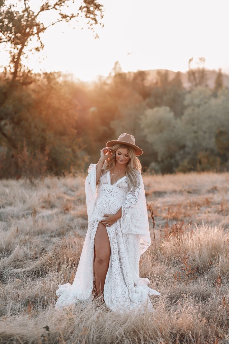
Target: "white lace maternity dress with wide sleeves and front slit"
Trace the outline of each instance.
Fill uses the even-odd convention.
[[[59,284],[55,308],[61,309],[77,302],[92,302],[94,237],[104,214],[115,214],[122,207],[122,217],[106,227],[111,246],[111,257],[106,274],[103,297],[112,311],[153,311],[148,295],[160,295],[148,287],[148,278],[139,278],[140,255],[151,245],[146,198],[139,171],[135,191],[128,190],[124,176],[113,185],[110,171],[103,173],[96,185],[96,164],[90,164],[85,179],[88,231],[85,236],[79,265],[72,283]]]

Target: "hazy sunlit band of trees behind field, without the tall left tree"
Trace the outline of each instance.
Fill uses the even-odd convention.
[[[85,171],[123,132],[143,149],[145,170],[228,170],[229,89],[186,89],[179,72],[167,85],[161,78],[150,83],[147,73],[118,72],[87,84],[60,73],[34,75],[1,107],[1,125],[13,139],[1,135],[1,178]],[[1,97],[5,83],[2,74]]]

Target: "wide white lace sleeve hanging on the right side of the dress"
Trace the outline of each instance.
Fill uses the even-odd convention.
[[[121,229],[123,233],[139,236],[141,254],[151,245],[145,189],[140,171],[136,189],[130,189],[122,205]]]

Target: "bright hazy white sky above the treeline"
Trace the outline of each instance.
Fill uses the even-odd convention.
[[[156,68],[185,72],[191,57],[203,56],[206,68],[221,67],[229,73],[228,0],[100,2],[105,25],[97,29],[99,39],[73,22],[57,23],[41,36],[45,49],[30,58],[30,67],[92,80],[108,75],[117,60],[125,72]],[[6,55],[1,56],[2,65]]]

